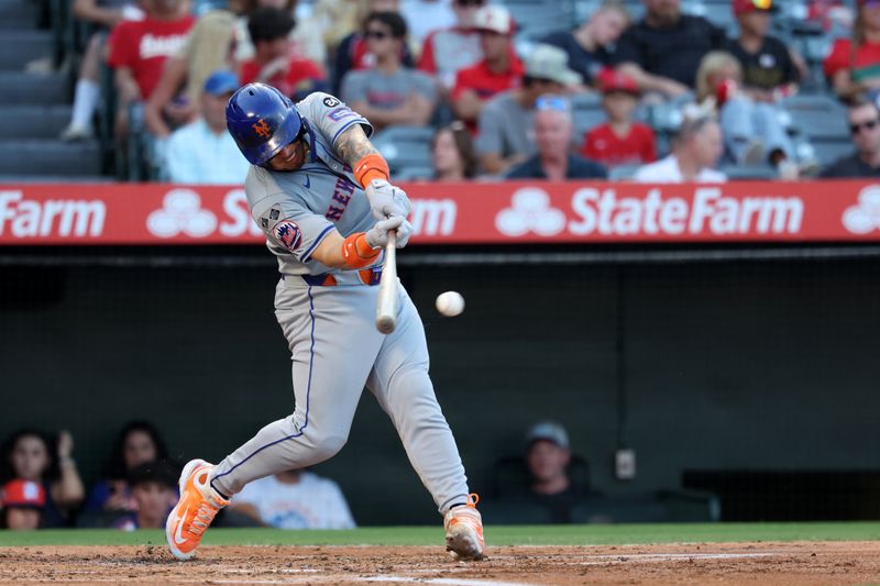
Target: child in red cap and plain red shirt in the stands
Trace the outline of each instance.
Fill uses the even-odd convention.
[[[598,75],[598,82],[608,122],[586,133],[582,154],[608,168],[657,161],[653,130],[632,121],[639,97],[636,80],[605,69]]]

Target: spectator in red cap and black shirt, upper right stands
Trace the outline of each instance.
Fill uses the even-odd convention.
[[[772,0],[733,0],[739,23],[739,37],[727,51],[743,67],[743,89],[754,100],[772,102],[777,96],[791,96],[805,73],[803,59],[779,38],[768,35]]]

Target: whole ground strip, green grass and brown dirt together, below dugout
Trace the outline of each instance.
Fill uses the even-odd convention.
[[[156,530],[0,532],[0,584],[880,584],[880,522],[487,527],[454,562],[442,528],[212,529],[175,561]]]

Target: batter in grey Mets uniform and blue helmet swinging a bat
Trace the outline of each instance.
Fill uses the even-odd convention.
[[[367,139],[373,128],[327,93],[294,106],[262,84],[230,98],[227,125],[253,165],[248,201],[278,259],[275,316],[290,349],[296,403],[216,466],[187,463],[165,524],[172,553],[191,557],[217,512],[251,480],[339,452],[366,386],[443,515],[447,550],[481,559],[477,497],[428,376],[421,320],[399,281],[394,332],[374,325],[382,248],[389,231],[406,246],[413,228],[406,194],[391,185]]]

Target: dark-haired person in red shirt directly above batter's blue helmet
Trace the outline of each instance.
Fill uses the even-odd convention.
[[[328,89],[323,69],[294,51],[289,35],[295,25],[294,18],[277,8],[258,8],[251,14],[248,32],[254,58],[241,65],[242,85],[268,84],[295,101]]]

